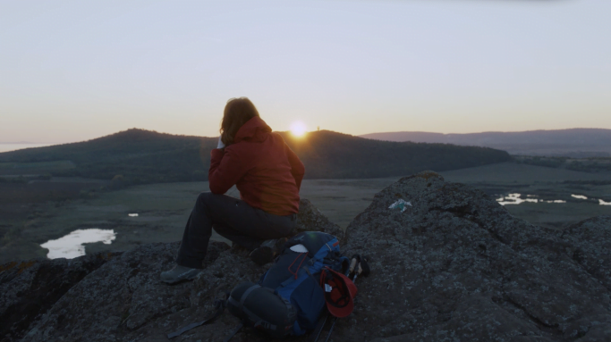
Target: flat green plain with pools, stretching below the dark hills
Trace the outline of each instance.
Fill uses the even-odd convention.
[[[566,201],[563,204],[505,205],[513,215],[549,228],[562,228],[591,216],[611,214],[611,206],[599,205],[591,199],[611,202],[611,173],[499,163],[441,174],[448,181],[470,184],[490,196],[520,193],[544,200]],[[301,197],[310,199],[331,221],[345,228],[367,208],[376,193],[397,179],[306,179],[301,187]],[[99,187],[96,183],[84,182],[84,179],[52,179],[38,181],[38,184],[51,186],[54,182],[55,185],[71,184],[71,187],[83,184]],[[21,208],[23,213],[11,216],[9,212],[0,211],[0,232],[4,236],[0,245],[0,262],[45,256],[47,250],[39,244],[61,238],[75,229],[115,229],[117,237],[111,245],[89,244],[87,252],[108,248],[125,250],[143,243],[179,240],[191,207],[201,191],[208,191],[208,182],[85,191],[87,196],[72,196],[63,201],[12,204],[16,209]],[[237,190],[232,188],[228,195],[238,196]],[[582,200],[571,195],[590,199]],[[130,213],[138,213],[138,217],[130,217]],[[222,239],[216,235],[213,238]]]

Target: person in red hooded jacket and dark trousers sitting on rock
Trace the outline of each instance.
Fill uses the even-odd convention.
[[[273,260],[277,239],[294,235],[305,172],[297,154],[272,133],[246,97],[227,102],[220,131],[218,146],[210,153],[210,192],[199,194],[176,265],[161,273],[166,283],[197,276],[213,228],[250,250],[250,258],[258,264]],[[241,199],[224,195],[233,185]]]

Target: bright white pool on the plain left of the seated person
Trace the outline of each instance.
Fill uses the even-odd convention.
[[[47,253],[49,259],[73,259],[85,255],[84,244],[102,242],[110,245],[115,238],[114,229],[77,229],[62,238],[49,240],[40,246],[49,250]]]

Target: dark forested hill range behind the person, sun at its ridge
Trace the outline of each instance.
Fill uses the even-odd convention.
[[[377,141],[327,130],[310,132],[305,138],[280,134],[305,164],[308,179],[392,177],[512,159],[506,152],[491,148]],[[57,164],[63,167],[49,168],[47,172],[92,179],[123,175],[136,184],[206,180],[210,150],[216,147],[216,141],[217,138],[128,129],[81,143],[2,153],[0,170],[4,174],[27,173],[31,165]]]

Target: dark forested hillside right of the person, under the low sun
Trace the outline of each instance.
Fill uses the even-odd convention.
[[[505,151],[448,144],[377,141],[328,130],[307,138],[284,133],[284,140],[306,165],[306,177],[378,178],[418,171],[446,171],[507,162]]]

